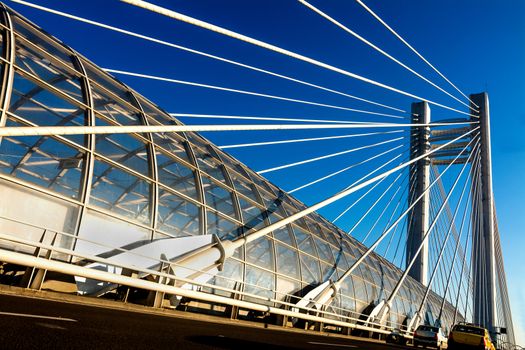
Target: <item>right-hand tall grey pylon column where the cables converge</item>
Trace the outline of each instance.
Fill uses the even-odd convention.
[[[491,334],[496,322],[496,258],[494,254],[494,196],[492,192],[492,159],[490,147],[489,97],[486,92],[470,95],[472,108],[479,113],[481,137],[481,210],[480,225],[474,227],[474,322],[486,327]],[[476,107],[476,104],[478,107]],[[479,119],[478,119],[479,117]],[[476,249],[477,248],[477,249]],[[483,254],[480,254],[480,253]]]

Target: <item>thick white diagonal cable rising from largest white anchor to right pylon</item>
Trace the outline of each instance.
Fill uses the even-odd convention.
[[[369,186],[369,185],[371,185],[371,184],[373,184],[373,183],[375,183],[375,182],[377,182],[377,181],[387,177],[390,174],[393,174],[393,173],[395,173],[395,172],[397,172],[399,170],[402,170],[402,169],[406,168],[407,166],[409,166],[410,164],[413,164],[413,163],[417,162],[420,159],[428,157],[431,154],[433,154],[434,152],[439,151],[441,148],[447,147],[448,145],[452,144],[453,142],[456,142],[459,139],[464,138],[467,135],[470,135],[470,134],[472,134],[474,132],[477,132],[478,130],[479,130],[479,126],[473,128],[472,130],[470,130],[468,132],[466,132],[464,135],[461,135],[458,138],[455,138],[455,139],[453,139],[453,140],[443,144],[442,146],[440,146],[440,147],[438,147],[436,149],[429,150],[425,154],[422,154],[422,155],[420,155],[418,157],[415,157],[414,159],[411,159],[410,161],[408,161],[408,162],[406,162],[404,164],[396,166],[393,169],[387,170],[387,171],[385,171],[385,172],[383,172],[383,173],[381,173],[379,175],[376,175],[376,176],[374,176],[371,179],[368,179],[368,180],[363,181],[363,182],[359,182],[355,186],[352,186],[350,188],[346,188],[346,189],[336,193],[335,195],[333,195],[333,196],[331,196],[331,197],[329,197],[329,198],[327,198],[325,200],[322,200],[322,201],[320,201],[320,202],[318,202],[318,203],[316,203],[314,205],[311,205],[310,207],[308,207],[306,209],[303,209],[303,210],[301,210],[301,211],[299,211],[299,212],[297,212],[295,214],[292,214],[292,215],[290,215],[290,216],[288,216],[288,217],[286,217],[284,219],[281,219],[281,220],[279,220],[279,221],[277,221],[277,222],[275,222],[275,223],[273,223],[273,224],[271,224],[269,226],[266,226],[266,227],[264,227],[264,228],[262,228],[262,229],[260,229],[258,231],[255,231],[255,232],[253,232],[253,233],[251,233],[251,234],[249,234],[247,236],[239,237],[239,238],[237,238],[234,241],[222,242],[222,244],[223,245],[225,243],[228,244],[228,245],[231,244],[231,246],[228,247],[228,248],[229,249],[230,248],[231,249],[235,249],[235,248],[243,246],[244,244],[253,242],[254,240],[256,240],[258,238],[261,238],[261,237],[264,237],[268,233],[270,233],[272,231],[275,231],[278,228],[281,228],[281,227],[283,227],[285,225],[288,225],[288,224],[290,224],[290,223],[292,223],[292,222],[294,222],[294,221],[296,221],[296,220],[298,220],[298,219],[300,219],[300,218],[302,218],[302,217],[304,217],[304,216],[306,216],[306,215],[308,215],[310,213],[313,213],[314,211],[317,211],[317,210],[319,210],[321,208],[326,207],[327,205],[332,204],[333,202],[335,202],[335,201],[337,201],[337,200],[339,200],[341,198],[349,196],[350,194],[352,194],[354,192],[357,192],[360,189],[362,189],[364,187],[367,187],[367,186]],[[368,175],[366,175],[365,177],[367,177],[367,176]],[[231,243],[229,243],[229,242],[231,242]],[[363,258],[363,260],[364,260],[364,258]]]

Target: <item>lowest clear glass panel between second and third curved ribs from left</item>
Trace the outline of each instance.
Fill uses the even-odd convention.
[[[150,187],[149,182],[97,159],[93,171],[90,203],[149,224]]]

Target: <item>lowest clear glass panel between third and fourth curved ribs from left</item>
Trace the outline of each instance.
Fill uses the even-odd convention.
[[[198,235],[199,207],[159,188],[158,229],[173,236]]]

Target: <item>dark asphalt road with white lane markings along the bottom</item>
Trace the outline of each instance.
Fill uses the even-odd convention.
[[[0,349],[403,349],[350,338],[0,295]],[[410,348],[409,348],[410,349]]]

